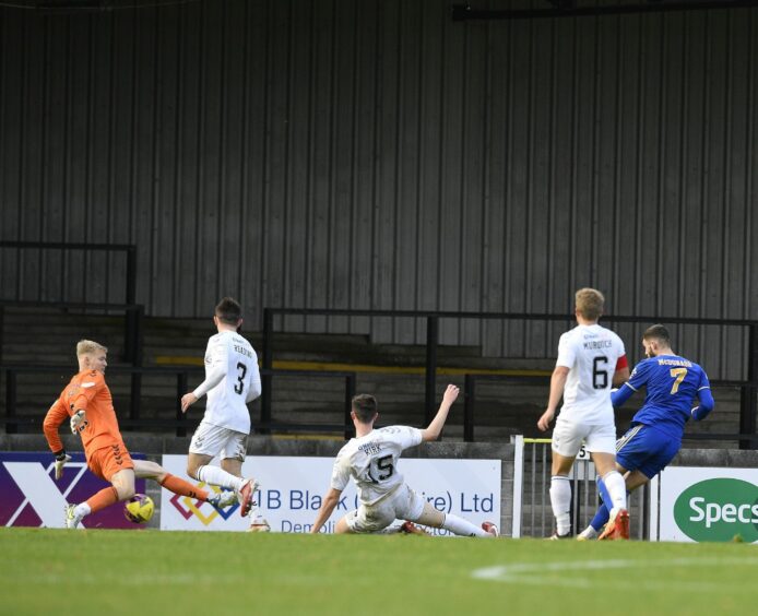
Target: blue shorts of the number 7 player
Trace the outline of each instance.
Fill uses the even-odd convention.
[[[632,425],[616,441],[616,462],[627,471],[640,471],[652,479],[663,471],[682,449],[675,439],[644,424]]]

